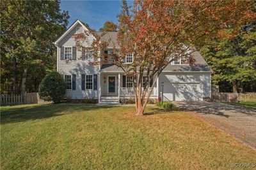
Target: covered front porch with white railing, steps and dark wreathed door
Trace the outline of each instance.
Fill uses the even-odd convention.
[[[134,88],[131,78],[124,73],[100,73],[99,75],[99,103],[120,103],[120,99],[132,99]],[[153,88],[151,98],[158,96],[158,82]],[[148,94],[148,93],[147,93]]]

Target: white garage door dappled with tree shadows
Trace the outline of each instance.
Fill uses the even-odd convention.
[[[202,85],[200,83],[166,83],[164,98],[170,101],[202,101]]]

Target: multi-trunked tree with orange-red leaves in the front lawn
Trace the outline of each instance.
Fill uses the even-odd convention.
[[[123,1],[124,2],[124,1]],[[147,101],[164,67],[179,57],[193,64],[191,53],[214,38],[232,38],[241,25],[255,20],[252,1],[134,1],[132,8],[123,6],[118,16],[118,46],[113,53],[100,53],[111,41],[101,42],[95,31],[75,36],[77,46],[90,34],[95,41],[87,47],[95,57],[92,64],[111,62],[134,76],[136,115],[143,115]],[[128,9],[128,10],[127,10]],[[132,63],[124,63],[132,53]],[[106,57],[105,55],[108,55]],[[107,59],[108,60],[105,60]],[[143,86],[143,76],[147,77]]]

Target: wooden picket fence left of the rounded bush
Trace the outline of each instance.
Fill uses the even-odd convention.
[[[26,93],[24,95],[3,95],[0,94],[0,104],[1,106],[7,105],[18,105],[18,104],[48,104],[51,101],[44,101],[40,99],[37,92]]]

